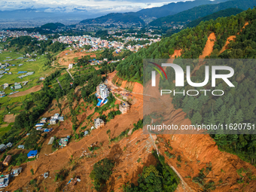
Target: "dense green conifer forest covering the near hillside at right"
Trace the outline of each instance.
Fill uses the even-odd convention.
[[[245,26],[245,21],[248,26]],[[254,59],[256,57],[256,10],[248,9],[236,16],[221,17],[217,20],[209,20],[201,22],[200,25],[194,28],[187,28],[172,35],[169,38],[164,38],[162,41],[152,44],[147,49],[139,50],[137,53],[129,56],[117,66],[117,71],[120,78],[128,81],[143,81],[142,59],[167,59],[169,54],[174,50],[182,49],[182,58],[198,58],[203,52],[206,45],[207,37],[212,32],[215,32],[217,41],[215,42],[214,50],[210,58],[222,59]],[[242,31],[242,32],[241,32]],[[236,35],[238,34],[239,35]],[[236,35],[236,41],[231,42],[229,49],[219,54],[219,50],[224,46],[227,38],[230,35]],[[201,97],[175,97],[172,99],[175,108],[182,108],[187,113],[187,117],[193,123],[253,123],[256,121],[256,67],[248,64],[241,68],[239,65],[232,66],[235,75],[232,82],[236,84],[235,91],[230,91],[227,96],[221,99],[218,97],[209,96],[202,101]],[[193,70],[193,67],[192,69]],[[200,68],[196,77],[192,78],[193,82],[202,82],[197,75],[204,72]],[[174,72],[169,71],[168,81],[160,80],[160,85],[173,84],[175,79]],[[173,73],[173,74],[172,74]],[[172,85],[173,86],[173,85]],[[207,87],[207,86],[206,86]],[[226,84],[217,82],[216,87],[221,87],[222,90],[228,91]],[[188,84],[184,90],[194,89]],[[209,105],[208,103],[211,103]],[[192,105],[193,104],[193,105]],[[198,104],[198,105],[197,105]],[[197,106],[197,108],[194,108]],[[218,148],[223,151],[238,155],[242,160],[254,164],[256,159],[256,142],[255,135],[211,135]]]

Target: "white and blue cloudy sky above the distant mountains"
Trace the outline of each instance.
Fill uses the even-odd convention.
[[[0,0],[0,11],[35,8],[46,12],[74,10],[108,13],[139,11],[185,0]]]

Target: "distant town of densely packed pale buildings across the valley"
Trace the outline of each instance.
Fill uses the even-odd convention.
[[[137,33],[125,33],[121,31],[109,31],[108,34],[113,38],[117,39],[114,41],[109,41],[108,39],[96,38],[91,35],[79,35],[79,36],[59,36],[59,38],[53,38],[53,42],[59,41],[63,44],[73,44],[73,47],[84,47],[85,45],[90,45],[91,48],[87,50],[88,52],[93,52],[101,48],[115,48],[117,53],[121,50],[130,50],[137,52],[139,48],[151,45],[154,42],[161,40],[161,35],[152,34],[154,31],[145,32],[147,38],[136,38]],[[121,35],[114,35],[115,33],[121,33]],[[30,36],[32,38],[37,38],[38,41],[47,41],[47,35],[41,35],[38,32],[26,32],[26,31],[0,31],[0,41],[5,42],[7,38],[20,37],[20,36]],[[133,41],[133,44],[129,44]],[[137,43],[136,43],[137,42]],[[141,44],[143,43],[143,44]]]

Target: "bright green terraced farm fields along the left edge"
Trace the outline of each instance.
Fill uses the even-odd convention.
[[[47,62],[46,56],[34,56],[34,53],[32,53],[33,56],[24,56],[23,49],[20,50],[19,53],[15,50],[15,47],[8,47],[8,50],[5,50],[5,44],[6,43],[0,42],[0,62],[2,65],[8,63],[9,66],[1,70],[10,69],[7,72],[11,72],[11,75],[4,74],[4,76],[0,78],[0,85],[9,84],[9,87],[5,88],[5,90],[3,86],[0,87],[0,91],[5,91],[7,94],[7,96],[0,98],[0,124],[3,126],[0,127],[0,136],[8,133],[8,130],[11,129],[10,125],[5,127],[5,115],[17,115],[20,111],[24,111],[26,102],[29,102],[31,99],[32,95],[30,93],[41,90],[41,87],[43,87],[43,81],[40,80],[40,78],[46,78],[56,71],[55,68],[45,65]],[[28,62],[27,60],[31,61]],[[19,66],[19,64],[23,65]],[[26,74],[18,74],[18,72],[34,72],[34,74],[24,78],[18,78],[20,75]],[[28,83],[24,85],[24,81],[28,81]],[[14,90],[14,88],[11,89],[11,87],[14,87],[14,83],[20,83],[22,88],[18,90]],[[19,93],[9,95],[14,91],[19,91]]]

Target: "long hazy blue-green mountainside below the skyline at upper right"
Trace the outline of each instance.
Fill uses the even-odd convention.
[[[150,26],[169,26],[175,24],[187,24],[192,20],[197,20],[200,17],[205,17],[206,15],[213,14],[217,11],[221,11],[227,8],[240,8],[246,10],[248,8],[254,8],[256,5],[256,0],[233,0],[228,2],[222,2],[217,5],[200,5],[195,8],[191,8],[187,11],[182,11],[175,15],[169,15],[166,17],[160,17],[157,20],[153,20],[149,23]]]

